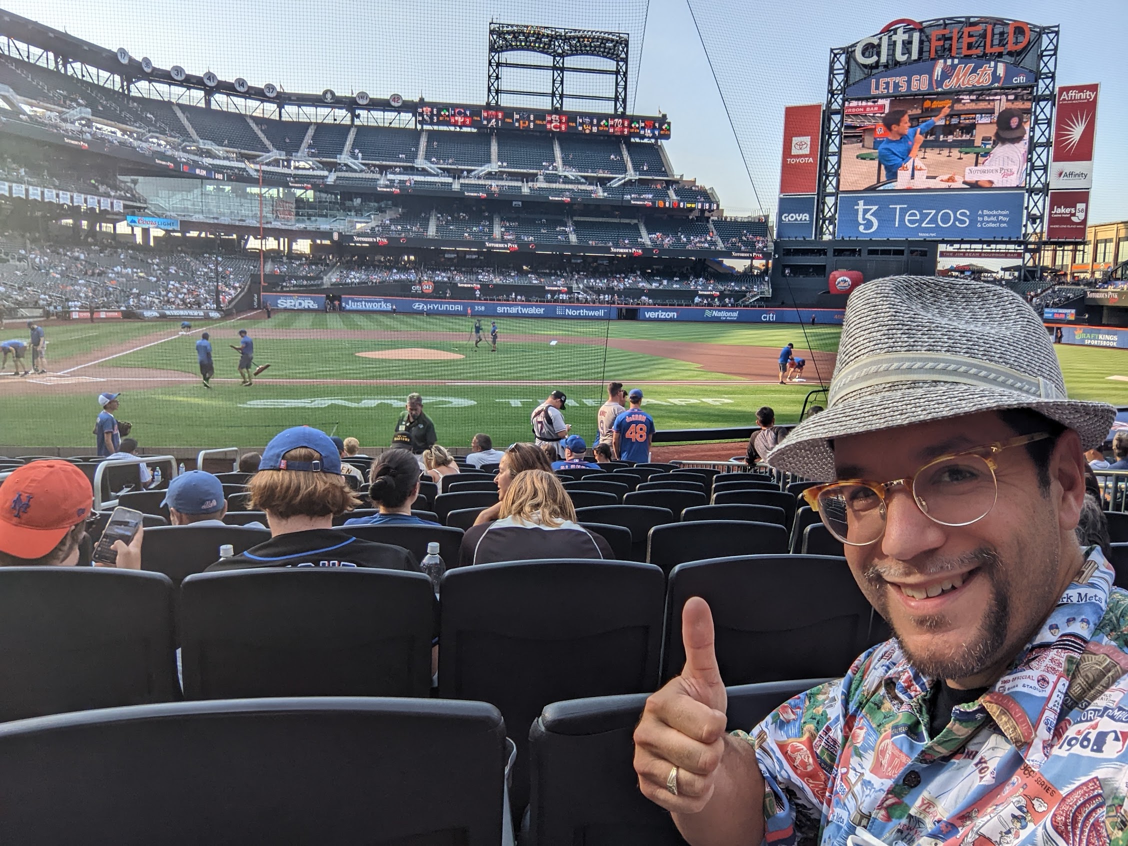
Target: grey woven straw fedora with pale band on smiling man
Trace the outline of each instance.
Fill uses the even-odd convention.
[[[986,282],[889,276],[851,294],[827,409],[800,423],[767,464],[835,478],[830,441],[914,423],[1031,408],[1099,447],[1116,409],[1066,396],[1054,343],[1019,294]]]

